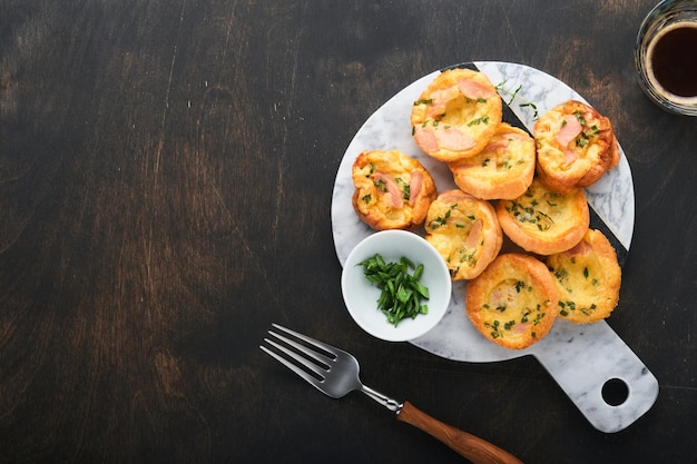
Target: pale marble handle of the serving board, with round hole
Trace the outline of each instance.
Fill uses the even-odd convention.
[[[557,324],[533,355],[596,428],[619,432],[654,405],[658,381],[606,322]]]

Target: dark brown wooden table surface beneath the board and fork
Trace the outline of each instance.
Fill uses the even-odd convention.
[[[0,2],[0,462],[462,462],[258,345],[342,346],[367,384],[526,463],[695,463],[697,119],[635,82],[654,0]],[[453,63],[541,69],[613,121],[636,224],[611,327],[660,383],[595,430],[532,357],[363,333],[330,217],[365,119]]]

